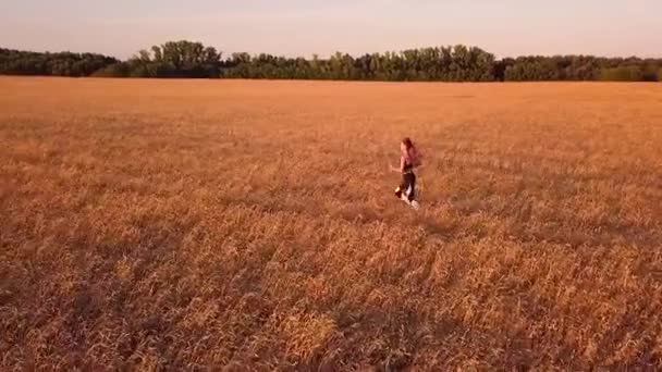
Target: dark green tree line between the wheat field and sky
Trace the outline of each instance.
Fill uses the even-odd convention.
[[[388,82],[662,82],[662,59],[592,55],[498,60],[466,46],[327,59],[233,53],[200,42],[169,41],[126,61],[95,53],[37,53],[0,48],[0,74],[96,77],[270,78]]]

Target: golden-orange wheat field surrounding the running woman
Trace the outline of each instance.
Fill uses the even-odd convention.
[[[0,140],[1,370],[662,368],[662,85],[1,78]]]

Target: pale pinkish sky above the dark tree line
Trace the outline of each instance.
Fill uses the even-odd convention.
[[[662,57],[662,0],[0,0],[0,47],[127,58],[188,39],[328,57],[465,44],[497,57]]]

